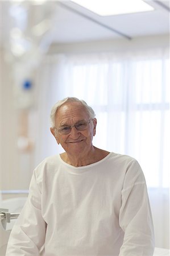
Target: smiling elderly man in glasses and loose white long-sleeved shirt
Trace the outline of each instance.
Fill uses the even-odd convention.
[[[151,256],[146,181],[135,159],[94,147],[97,120],[77,98],[57,102],[51,133],[65,152],[35,169],[6,255]]]

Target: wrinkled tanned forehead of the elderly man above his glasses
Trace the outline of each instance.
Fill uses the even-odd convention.
[[[81,102],[65,102],[59,109],[57,109],[55,121],[57,123],[67,121],[77,122],[89,118],[89,113]]]

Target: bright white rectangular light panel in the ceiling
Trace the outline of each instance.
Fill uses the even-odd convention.
[[[152,6],[143,0],[73,0],[72,2],[101,16],[154,10]]]

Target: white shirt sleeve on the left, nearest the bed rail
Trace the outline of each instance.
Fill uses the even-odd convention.
[[[41,191],[34,172],[28,199],[11,231],[6,256],[39,255],[45,241],[45,230],[46,224],[41,210]]]

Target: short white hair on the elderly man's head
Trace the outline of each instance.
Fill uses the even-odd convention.
[[[57,109],[59,109],[60,106],[62,106],[65,102],[80,102],[85,107],[90,118],[94,118],[96,116],[96,114],[94,113],[94,110],[90,106],[88,106],[88,104],[86,104],[84,100],[78,100],[78,98],[76,97],[67,97],[61,101],[57,101],[56,104],[51,109],[50,119],[51,119],[52,128],[55,127],[55,116],[56,116]]]

